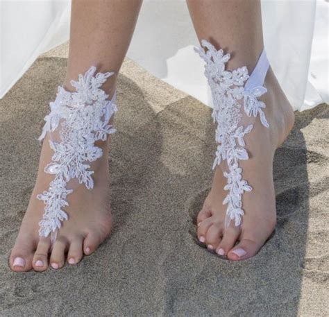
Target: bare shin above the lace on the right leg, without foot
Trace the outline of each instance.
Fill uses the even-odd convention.
[[[228,69],[246,66],[249,74],[263,49],[259,0],[187,0],[199,40],[229,51]]]

